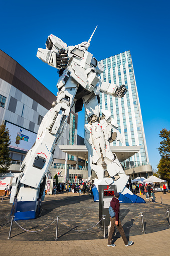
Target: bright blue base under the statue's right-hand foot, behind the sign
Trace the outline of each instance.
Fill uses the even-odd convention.
[[[99,192],[96,188],[96,186],[94,186],[92,188],[92,191],[93,191],[93,199],[94,199],[94,202],[99,202]],[[119,193],[120,197],[119,197],[119,202],[120,203],[146,203],[144,201],[143,198],[137,196],[137,195],[130,195],[130,194],[121,194]]]

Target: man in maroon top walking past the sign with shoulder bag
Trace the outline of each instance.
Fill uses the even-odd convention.
[[[119,230],[119,233],[124,241],[125,246],[129,246],[132,245],[133,241],[127,241],[127,238],[125,236],[124,230],[122,228],[121,225],[121,221],[119,219],[119,208],[120,208],[120,203],[119,203],[119,193],[115,193],[115,197],[112,198],[111,202],[110,202],[110,206],[113,208],[114,212],[115,212],[115,217],[111,218],[110,217],[110,222],[111,222],[111,227],[110,227],[110,232],[109,232],[109,237],[108,237],[108,243],[107,246],[112,246],[114,247],[115,244],[112,243],[112,236],[114,233],[114,229],[115,229],[115,225],[117,226],[117,229]]]

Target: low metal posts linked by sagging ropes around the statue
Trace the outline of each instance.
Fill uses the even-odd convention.
[[[161,221],[165,218],[166,214],[167,214],[167,218],[166,218],[163,222],[161,222]],[[120,215],[120,216],[121,216],[121,215]],[[11,233],[12,233],[13,222],[15,222],[21,229],[23,229],[23,230],[25,230],[25,231],[27,231],[27,232],[35,233],[35,232],[41,232],[41,231],[43,231],[44,229],[48,228],[49,226],[51,226],[51,225],[56,221],[56,232],[55,232],[56,235],[55,235],[55,240],[58,240],[59,221],[60,221],[61,225],[66,226],[66,227],[69,228],[70,230],[77,231],[77,232],[84,232],[84,231],[88,231],[88,230],[94,228],[94,227],[97,226],[97,225],[99,224],[99,222],[102,220],[102,221],[103,221],[103,237],[104,237],[104,238],[107,237],[107,235],[106,235],[106,223],[105,223],[105,220],[107,220],[107,221],[110,223],[110,221],[105,218],[105,215],[103,215],[103,217],[102,217],[95,225],[93,225],[92,227],[87,228],[87,229],[84,229],[84,230],[77,230],[77,229],[75,229],[75,228],[71,228],[71,227],[69,227],[68,225],[66,225],[66,224],[57,216],[57,218],[55,218],[48,226],[46,226],[46,227],[44,227],[44,228],[42,228],[42,229],[40,229],[40,230],[32,231],[32,230],[28,230],[28,229],[22,227],[14,218],[15,218],[15,216],[12,216],[8,239],[11,239],[11,238],[12,238],[12,237],[11,237]],[[143,232],[143,234],[145,234],[146,231],[145,231],[144,220],[143,220],[143,213],[142,213],[142,212],[140,212],[140,215],[137,217],[137,220],[136,220],[132,225],[130,225],[129,227],[123,227],[123,229],[132,227],[140,218],[141,218],[142,232]],[[168,226],[170,226],[170,216],[169,216],[169,210],[168,210],[168,209],[166,209],[166,213],[165,213],[164,216],[161,218],[160,223],[158,223],[158,224],[155,224],[155,223],[154,223],[153,226],[161,225],[161,224],[164,223],[167,219],[168,219]],[[6,225],[9,224],[9,223],[10,223],[10,222],[7,222],[7,223],[5,223],[5,224],[0,225],[0,229],[3,228],[4,226],[6,226]],[[147,223],[147,224],[148,224],[148,225],[151,225],[151,224],[149,224],[149,223]],[[140,225],[140,226],[141,226],[141,225]],[[109,225],[109,226],[110,226],[110,225]],[[109,233],[109,226],[108,226],[108,233]],[[76,226],[76,227],[77,227],[77,226]]]

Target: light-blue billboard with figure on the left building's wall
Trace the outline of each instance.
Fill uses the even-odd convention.
[[[17,125],[6,123],[6,127],[10,132],[11,148],[28,151],[36,141],[37,134],[21,128]]]

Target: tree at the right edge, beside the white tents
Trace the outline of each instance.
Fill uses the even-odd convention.
[[[160,131],[159,137],[162,138],[158,147],[161,159],[157,165],[157,174],[162,180],[170,183],[170,130],[165,128]]]

